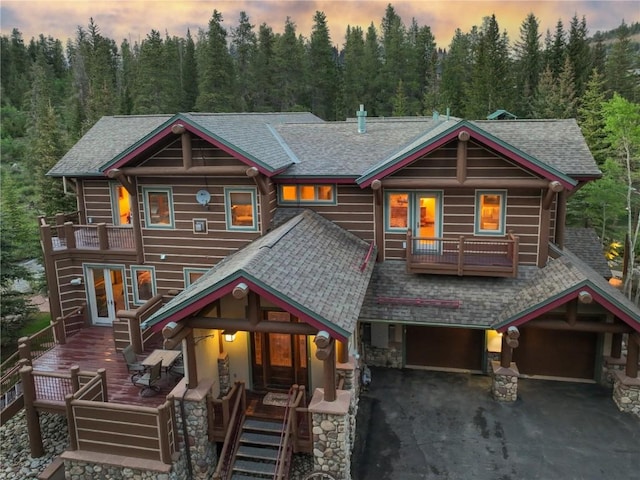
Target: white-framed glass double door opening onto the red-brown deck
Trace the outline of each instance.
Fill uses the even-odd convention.
[[[118,310],[126,308],[124,268],[87,266],[87,301],[94,325],[111,325]]]

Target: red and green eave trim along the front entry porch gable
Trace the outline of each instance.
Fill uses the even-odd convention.
[[[184,321],[200,311],[202,308],[210,305],[212,302],[231,293],[240,282],[247,284],[251,291],[264,297],[274,305],[277,305],[292,315],[295,315],[301,321],[316,327],[318,330],[325,330],[329,332],[329,334],[337,340],[345,342],[351,335],[350,332],[347,332],[329,320],[315,314],[303,305],[293,301],[287,295],[271,288],[269,285],[266,285],[264,282],[244,271],[238,271],[233,275],[226,277],[224,280],[221,280],[220,282],[203,290],[198,295],[194,295],[193,297],[186,299],[184,302],[177,303],[170,309],[167,309],[166,312],[159,312],[160,315],[152,316],[147,321],[143,322],[140,327],[142,329],[151,328],[154,332],[160,332],[167,323]]]

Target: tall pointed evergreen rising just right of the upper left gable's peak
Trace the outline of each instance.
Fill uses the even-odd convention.
[[[222,14],[213,11],[209,29],[198,41],[198,99],[196,109],[201,112],[233,112],[233,59],[227,48],[227,31],[222,26]]]

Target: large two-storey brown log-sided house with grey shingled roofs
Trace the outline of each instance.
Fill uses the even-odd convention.
[[[363,362],[489,374],[507,401],[521,376],[610,382],[640,412],[640,310],[565,248],[601,175],[574,120],[104,117],[49,175],[78,200],[41,219],[54,316],[182,348],[176,399],[298,385],[313,431],[344,432],[312,445],[337,478]]]

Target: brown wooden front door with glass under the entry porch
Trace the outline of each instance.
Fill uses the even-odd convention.
[[[266,313],[272,321],[289,318],[286,312]],[[251,352],[254,390],[288,390],[293,384],[308,384],[305,335],[254,332]]]

